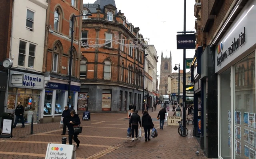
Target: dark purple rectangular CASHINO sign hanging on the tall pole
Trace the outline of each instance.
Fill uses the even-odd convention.
[[[195,49],[195,34],[178,34],[177,49]]]

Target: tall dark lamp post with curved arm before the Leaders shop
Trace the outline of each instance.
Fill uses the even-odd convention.
[[[72,69],[72,54],[73,54],[73,35],[74,35],[74,18],[75,17],[82,17],[82,16],[92,16],[92,14],[88,13],[86,15],[78,15],[78,16],[75,16],[73,15],[71,17],[71,23],[72,23],[72,28],[71,28],[71,47],[70,47],[70,58],[69,58],[69,66],[68,66],[68,106],[70,104],[70,99],[71,99],[71,96],[70,96],[70,86],[71,86],[71,69]]]

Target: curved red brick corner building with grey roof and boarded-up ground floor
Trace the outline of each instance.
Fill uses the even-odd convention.
[[[81,48],[80,66],[81,92],[90,96],[88,109],[125,112],[129,104],[142,108],[144,51],[134,46],[144,43],[140,28],[117,11],[114,0],[84,4],[83,13],[92,14],[83,17],[82,41],[89,48]]]

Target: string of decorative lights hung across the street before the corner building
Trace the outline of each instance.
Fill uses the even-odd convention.
[[[114,44],[120,44],[125,47],[132,47],[133,49],[144,50],[147,45],[142,42],[142,39],[148,38],[136,38],[136,39],[118,39],[115,36],[112,40],[110,39],[91,39],[91,38],[81,38],[80,44],[84,49],[96,48],[96,47],[112,47]],[[130,40],[130,43],[124,43],[124,40]],[[148,39],[149,40],[149,39]]]

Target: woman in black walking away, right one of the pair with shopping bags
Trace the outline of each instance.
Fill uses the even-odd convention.
[[[151,116],[148,114],[148,111],[144,110],[142,116],[142,127],[145,132],[145,142],[150,141],[150,129],[154,127]]]

